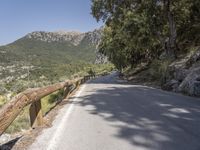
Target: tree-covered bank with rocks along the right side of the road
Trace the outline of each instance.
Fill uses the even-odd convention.
[[[92,0],[92,15],[106,24],[100,52],[130,80],[140,73],[140,81],[200,96],[199,8],[196,0]]]

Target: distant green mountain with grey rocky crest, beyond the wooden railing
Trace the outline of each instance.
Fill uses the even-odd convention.
[[[102,63],[97,45],[102,28],[81,32],[44,32],[27,34],[0,47],[0,84],[15,80],[46,78],[60,80],[86,64]]]

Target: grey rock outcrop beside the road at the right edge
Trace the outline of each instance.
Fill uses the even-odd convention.
[[[168,72],[163,89],[200,96],[200,49],[172,63]]]

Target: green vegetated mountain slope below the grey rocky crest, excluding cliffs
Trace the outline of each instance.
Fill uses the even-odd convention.
[[[95,45],[83,40],[79,45],[74,46],[69,42],[43,42],[34,39],[22,38],[14,43],[0,47],[0,66],[7,67],[14,65],[14,80],[6,84],[7,90],[19,92],[23,89],[21,84],[30,82],[51,82],[55,83],[63,78],[83,70],[87,65],[95,61]],[[22,69],[26,66],[33,66],[32,69]],[[29,75],[19,82],[18,77]],[[1,70],[1,78],[12,76],[7,71]],[[26,83],[25,83],[26,82]],[[31,87],[35,87],[32,84]],[[27,86],[25,86],[27,88]],[[3,89],[2,89],[3,90]],[[1,91],[2,91],[1,90]]]

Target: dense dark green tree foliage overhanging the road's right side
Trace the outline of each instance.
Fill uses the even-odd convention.
[[[119,70],[163,52],[175,58],[186,43],[199,44],[199,7],[195,0],[92,0],[92,15],[106,23],[100,52]]]

